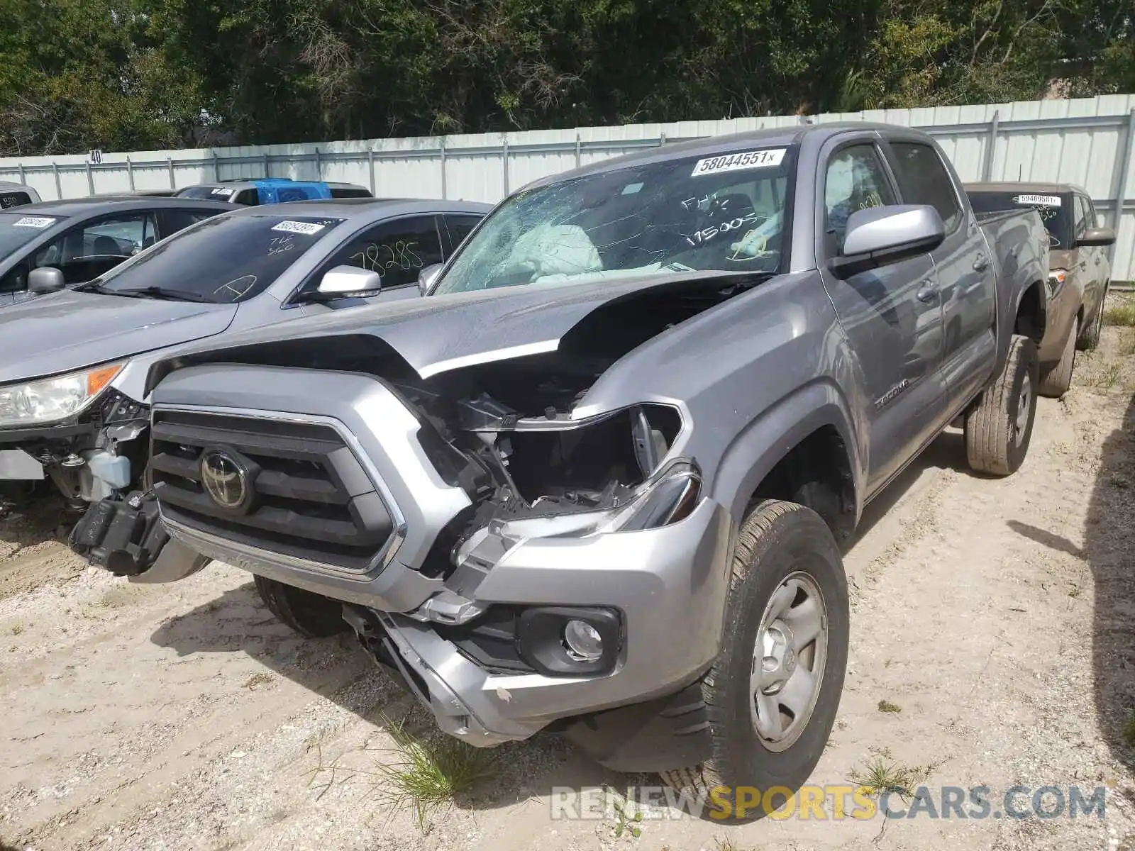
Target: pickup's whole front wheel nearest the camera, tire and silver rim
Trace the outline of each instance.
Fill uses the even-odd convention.
[[[722,649],[701,681],[713,756],[663,778],[725,819],[782,806],[835,722],[848,609],[839,546],[821,516],[796,503],[756,505],[733,551]]]

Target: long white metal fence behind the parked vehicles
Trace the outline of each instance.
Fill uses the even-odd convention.
[[[237,177],[342,180],[394,197],[495,202],[529,180],[642,148],[801,121],[873,120],[931,133],[962,179],[1079,184],[1116,228],[1112,277],[1135,279],[1135,95],[323,144],[0,159],[44,200]]]

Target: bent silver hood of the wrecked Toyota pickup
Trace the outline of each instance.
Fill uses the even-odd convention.
[[[423,378],[451,369],[550,352],[560,338],[596,307],[639,290],[688,286],[716,278],[722,287],[748,276],[721,272],[636,275],[585,284],[552,283],[501,287],[471,293],[376,303],[334,311],[225,338],[224,348],[188,346],[177,353],[180,364],[216,362],[234,348],[326,336],[370,335],[394,348]],[[712,286],[712,284],[711,284]],[[155,364],[150,386],[168,369]]]

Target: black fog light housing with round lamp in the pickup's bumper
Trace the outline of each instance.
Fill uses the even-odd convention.
[[[615,609],[533,606],[516,621],[516,651],[545,676],[609,673],[621,648]]]

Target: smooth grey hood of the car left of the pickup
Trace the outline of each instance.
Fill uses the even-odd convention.
[[[235,304],[64,290],[0,310],[0,385],[220,334]]]

